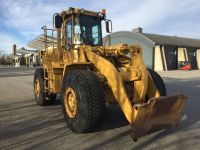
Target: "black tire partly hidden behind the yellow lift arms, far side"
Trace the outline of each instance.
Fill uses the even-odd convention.
[[[161,78],[161,76],[157,72],[155,72],[154,70],[152,70],[150,68],[148,68],[147,70],[150,73],[151,77],[153,78],[153,81],[154,81],[156,87],[158,88],[160,95],[166,96],[167,91],[166,91],[165,83],[164,83],[163,79]]]

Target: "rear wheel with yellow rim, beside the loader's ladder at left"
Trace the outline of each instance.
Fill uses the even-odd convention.
[[[48,94],[44,92],[44,69],[43,68],[38,68],[35,70],[34,94],[35,94],[36,103],[40,106],[53,104],[56,101],[56,94]]]

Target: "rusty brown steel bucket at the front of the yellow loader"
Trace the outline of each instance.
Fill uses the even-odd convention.
[[[131,136],[134,141],[152,132],[177,126],[186,97],[183,95],[151,98],[133,107]]]

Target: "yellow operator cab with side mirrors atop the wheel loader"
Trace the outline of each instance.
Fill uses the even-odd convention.
[[[106,31],[111,33],[112,22],[106,20],[105,9],[92,12],[84,9],[69,8],[54,16],[55,28],[62,28],[63,45],[66,49],[72,45],[102,46],[101,21],[106,22]],[[64,31],[64,32],[63,32]]]

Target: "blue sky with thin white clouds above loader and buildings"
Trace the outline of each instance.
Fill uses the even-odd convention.
[[[113,32],[142,27],[145,33],[200,39],[200,0],[0,0],[0,52],[26,47],[52,15],[68,7],[106,9]],[[104,26],[103,26],[104,27]]]

